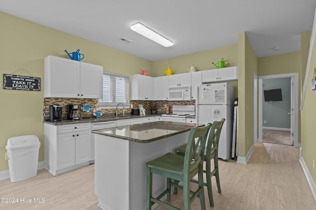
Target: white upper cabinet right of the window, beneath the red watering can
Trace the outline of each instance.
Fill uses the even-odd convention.
[[[130,76],[131,100],[153,100],[154,78],[142,74]]]

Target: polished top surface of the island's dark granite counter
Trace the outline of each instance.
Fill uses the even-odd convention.
[[[169,136],[190,131],[192,127],[200,127],[204,124],[156,121],[136,125],[126,125],[121,127],[92,130],[104,136],[111,136],[138,143],[150,143]]]

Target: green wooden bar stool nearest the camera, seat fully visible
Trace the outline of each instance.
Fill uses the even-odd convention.
[[[211,124],[203,127],[193,127],[190,131],[187,147],[184,156],[168,152],[155,160],[146,163],[147,166],[147,193],[146,210],[151,210],[154,203],[170,210],[179,210],[178,208],[167,204],[160,199],[167,195],[167,201],[170,201],[171,186],[183,190],[184,209],[190,210],[191,203],[199,197],[201,209],[205,210],[205,199],[203,191],[203,151]],[[195,139],[197,138],[197,141]],[[202,147],[199,147],[199,146]],[[158,197],[152,195],[153,173],[167,178],[167,189]],[[190,180],[198,174],[198,189],[190,190]],[[183,186],[176,184],[173,180],[183,181]],[[193,194],[190,197],[190,194]]]

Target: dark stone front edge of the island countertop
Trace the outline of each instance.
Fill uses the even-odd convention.
[[[197,127],[204,126],[204,124],[196,124],[196,125],[197,125]],[[128,140],[128,141],[131,141],[131,142],[150,143],[150,142],[155,142],[157,140],[164,139],[164,138],[167,138],[167,137],[170,137],[170,136],[174,136],[174,135],[177,135],[177,134],[180,134],[180,133],[188,132],[190,130],[191,130],[191,128],[188,128],[188,129],[185,129],[185,130],[180,130],[180,131],[177,131],[177,132],[174,132],[174,133],[169,133],[169,134],[166,134],[166,135],[163,135],[163,136],[159,136],[159,137],[152,138],[152,139],[147,139],[147,140],[140,140],[140,139],[134,139],[134,138],[124,137],[124,136],[118,136],[118,135],[110,134],[110,133],[102,133],[102,132],[99,132],[97,130],[91,130],[91,133],[95,133],[95,134],[99,134],[99,135],[103,135],[103,136],[110,136],[110,137],[114,137],[114,138],[117,138],[117,139]]]

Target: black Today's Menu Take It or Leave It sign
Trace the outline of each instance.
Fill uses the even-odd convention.
[[[3,74],[3,89],[40,91],[40,78]]]

